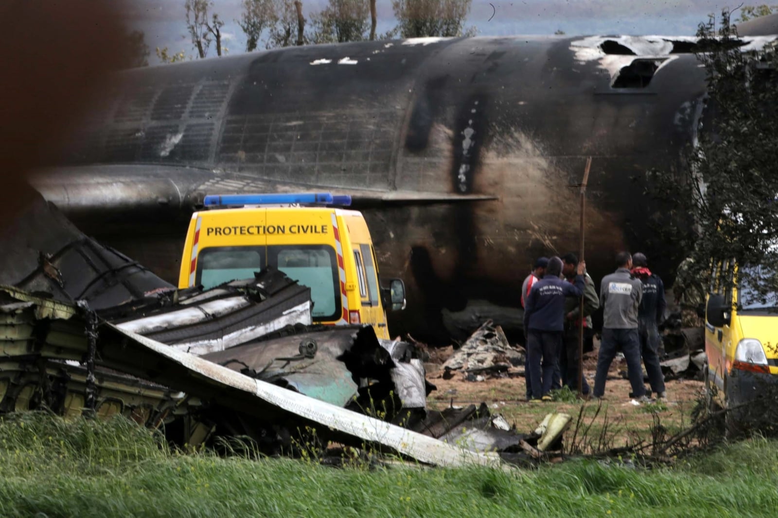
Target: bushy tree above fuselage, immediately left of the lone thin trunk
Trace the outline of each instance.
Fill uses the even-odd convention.
[[[370,14],[367,0],[329,0],[324,10],[310,17],[313,33],[309,40],[311,43],[367,40],[369,28],[372,30],[367,21]]]

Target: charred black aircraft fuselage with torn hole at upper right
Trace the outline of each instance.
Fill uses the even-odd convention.
[[[350,193],[381,273],[408,287],[393,334],[434,341],[486,318],[510,330],[534,258],[577,248],[571,186],[587,156],[592,276],[640,249],[672,279],[682,251],[661,241],[664,207],[644,192],[646,172],[681,167],[695,138],[695,44],[426,38],[125,71],[35,186],[169,280],[205,193]]]

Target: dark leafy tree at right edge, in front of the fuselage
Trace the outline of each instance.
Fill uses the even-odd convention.
[[[690,253],[680,286],[706,286],[711,264],[728,264],[722,277],[734,283],[737,264],[737,282],[752,300],[778,306],[769,296],[778,293],[778,50],[771,44],[744,52],[731,12],[722,12],[718,31],[714,21],[698,31],[706,124],[682,174],[657,173],[656,185],[675,200],[677,237]]]

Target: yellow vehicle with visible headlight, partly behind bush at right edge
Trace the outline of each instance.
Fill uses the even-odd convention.
[[[717,266],[705,308],[706,392],[724,408],[778,384],[778,296],[757,296],[737,273],[734,262]]]

